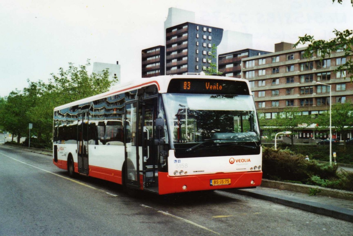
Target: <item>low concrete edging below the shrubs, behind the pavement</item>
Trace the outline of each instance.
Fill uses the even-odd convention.
[[[278,188],[279,190],[288,190],[292,192],[306,193],[309,194],[310,188],[317,188],[321,190],[317,195],[331,197],[331,198],[341,198],[345,200],[353,201],[353,192],[345,190],[336,190],[332,188],[324,188],[314,185],[305,185],[305,184],[294,184],[288,182],[280,182],[274,180],[263,179],[261,187],[266,188]]]

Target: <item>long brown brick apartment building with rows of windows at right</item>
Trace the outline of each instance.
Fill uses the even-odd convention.
[[[303,57],[306,48],[281,51],[288,45],[276,44],[274,53],[241,60],[242,77],[249,80],[258,112],[266,119],[275,118],[288,107],[299,107],[303,116],[327,112],[330,86],[333,104],[353,101],[353,84],[347,79],[350,75],[346,71],[334,72],[348,60],[343,51],[331,52],[330,58],[314,52],[308,59]],[[299,138],[315,137],[313,132],[302,133]]]

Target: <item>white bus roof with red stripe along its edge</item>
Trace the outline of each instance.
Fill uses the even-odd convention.
[[[214,75],[161,75],[161,76],[150,77],[150,78],[142,78],[139,81],[131,81],[128,84],[118,85],[116,87],[113,87],[113,89],[108,92],[97,94],[88,98],[73,101],[72,103],[55,107],[54,111],[57,111],[66,107],[72,107],[80,104],[89,103],[91,101],[107,98],[124,92],[129,92],[149,85],[156,85],[159,93],[166,93],[169,82],[172,79],[221,79],[221,80],[245,81],[247,83],[247,86],[249,87],[249,81],[244,79],[239,79],[239,78],[233,78],[233,77],[214,76]],[[251,95],[251,92],[249,95]]]

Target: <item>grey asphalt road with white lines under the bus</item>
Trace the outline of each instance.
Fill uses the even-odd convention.
[[[0,145],[0,235],[352,235],[353,224],[231,192],[131,196]]]

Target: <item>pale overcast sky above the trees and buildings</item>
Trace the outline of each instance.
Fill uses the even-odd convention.
[[[331,0],[12,0],[0,1],[0,96],[48,81],[72,62],[121,65],[121,83],[141,77],[141,50],[164,43],[169,7],[195,23],[250,33],[253,48],[274,51],[298,36],[334,37],[353,29],[353,7]],[[92,66],[88,67],[92,72]]]

